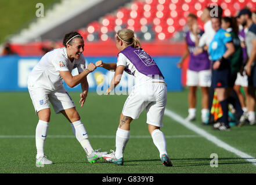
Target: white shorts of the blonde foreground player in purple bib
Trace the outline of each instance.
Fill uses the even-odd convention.
[[[122,114],[138,119],[146,108],[147,124],[163,127],[164,110],[167,103],[167,88],[164,83],[146,83],[132,88],[124,103]]]

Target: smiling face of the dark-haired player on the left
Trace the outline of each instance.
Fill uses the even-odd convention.
[[[84,51],[84,40],[74,38],[70,44],[67,44],[67,55],[70,60],[79,59]]]

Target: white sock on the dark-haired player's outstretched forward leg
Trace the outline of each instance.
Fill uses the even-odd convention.
[[[93,149],[88,139],[88,134],[82,124],[81,120],[74,121],[71,123],[72,130],[74,132],[75,138],[80,142],[82,148],[84,149],[87,156],[91,155]]]

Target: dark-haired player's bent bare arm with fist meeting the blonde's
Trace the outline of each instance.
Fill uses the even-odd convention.
[[[66,82],[66,84],[68,85],[68,87],[73,88],[77,86],[81,82],[81,80],[84,79],[85,76],[93,72],[94,69],[96,69],[96,66],[93,63],[90,63],[83,72],[76,76],[72,76],[70,71],[59,71],[59,73],[64,82]]]

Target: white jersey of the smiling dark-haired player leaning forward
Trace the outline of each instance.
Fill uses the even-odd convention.
[[[46,53],[37,65],[34,66],[28,76],[28,86],[42,87],[48,90],[56,90],[63,86],[59,71],[72,71],[77,68],[81,73],[85,69],[85,58],[81,54],[78,60],[71,62],[67,56],[65,47]]]

